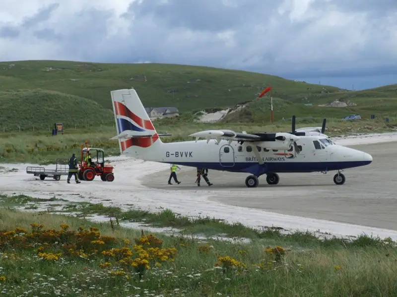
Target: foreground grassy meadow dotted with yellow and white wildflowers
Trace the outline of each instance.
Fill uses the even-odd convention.
[[[393,242],[250,243],[142,234],[0,209],[4,296],[394,296]]]

